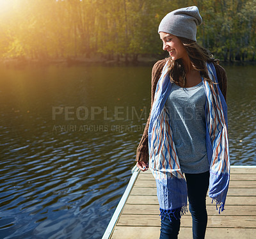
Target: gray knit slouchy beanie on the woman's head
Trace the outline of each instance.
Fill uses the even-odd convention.
[[[180,8],[168,13],[160,22],[158,33],[170,33],[196,42],[196,26],[202,24],[197,6]]]

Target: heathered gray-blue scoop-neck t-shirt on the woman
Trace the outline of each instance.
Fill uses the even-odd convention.
[[[165,106],[170,113],[173,142],[182,173],[209,170],[205,143],[205,90],[200,82],[191,88],[172,84]]]

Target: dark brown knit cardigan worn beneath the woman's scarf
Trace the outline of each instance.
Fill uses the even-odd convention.
[[[156,91],[157,82],[159,81],[159,78],[161,76],[163,66],[166,63],[167,59],[163,59],[160,61],[157,61],[157,63],[152,68],[152,86],[151,86],[151,109],[152,104],[154,102],[154,95]],[[220,66],[214,63],[214,66],[216,68],[216,74],[219,82],[219,86],[221,89],[221,92],[226,100],[227,98],[227,75],[225,70]],[[151,112],[150,109],[150,112]],[[149,121],[150,121],[150,114],[148,116],[147,124],[145,126],[144,133],[141,137],[140,144],[136,151],[136,161],[143,161],[148,162],[148,127],[149,127]]]

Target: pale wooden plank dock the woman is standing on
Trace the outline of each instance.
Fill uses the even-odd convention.
[[[156,181],[150,171],[134,171],[119,208],[102,239],[159,238]],[[232,166],[225,210],[218,213],[207,197],[205,238],[256,238],[256,167]],[[179,238],[192,238],[190,213],[182,216]]]

